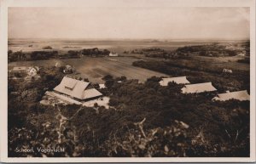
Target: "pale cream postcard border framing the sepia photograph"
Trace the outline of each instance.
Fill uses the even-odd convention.
[[[0,143],[0,161],[2,162],[252,162],[255,161],[255,1],[254,0],[2,0],[0,1],[0,109],[1,109],[1,143]],[[166,7],[250,7],[250,43],[251,43],[251,65],[250,65],[250,157],[8,157],[8,128],[7,128],[7,79],[8,79],[8,7],[96,7],[96,8],[112,8],[122,5],[142,6],[144,3],[157,1],[158,3],[166,3]],[[170,3],[172,2],[172,3]]]

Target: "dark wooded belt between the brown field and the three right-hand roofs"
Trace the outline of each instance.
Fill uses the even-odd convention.
[[[147,68],[153,71],[166,73],[170,76],[188,76],[189,82],[212,82],[218,92],[226,90],[250,91],[250,72],[233,70],[232,74],[223,73],[223,67],[216,67],[208,63],[201,63],[189,59],[172,59],[168,61],[135,61],[132,65]]]

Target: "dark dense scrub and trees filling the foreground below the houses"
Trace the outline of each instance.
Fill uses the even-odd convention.
[[[182,85],[160,86],[160,77],[141,84],[105,76],[107,88],[100,91],[110,97],[110,109],[52,107],[38,99],[63,75],[56,69],[42,72],[37,82],[9,83],[9,156],[249,156],[247,101],[213,102],[214,93],[182,94]],[[29,96],[22,99],[20,92]],[[17,146],[65,152],[20,154]]]

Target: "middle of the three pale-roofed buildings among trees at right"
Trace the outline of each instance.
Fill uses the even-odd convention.
[[[204,82],[204,83],[185,85],[182,88],[182,93],[204,93],[204,92],[212,92],[216,90],[217,89],[212,86],[212,82]]]

